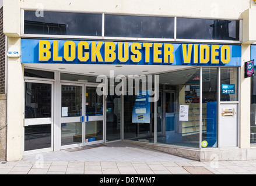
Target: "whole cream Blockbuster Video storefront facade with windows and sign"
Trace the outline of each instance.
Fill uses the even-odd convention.
[[[202,13],[171,1],[73,3],[3,1],[3,17],[12,9],[20,26],[4,24],[8,52],[17,47],[7,58],[7,160],[115,140],[202,161],[256,158],[244,77],[253,1]]]

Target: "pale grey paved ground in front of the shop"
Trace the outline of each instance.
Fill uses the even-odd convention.
[[[198,162],[118,141],[2,161],[0,174],[256,174],[256,160]]]

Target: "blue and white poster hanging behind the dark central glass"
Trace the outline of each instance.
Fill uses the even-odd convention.
[[[132,110],[132,123],[150,123],[149,97],[150,90],[138,91]]]

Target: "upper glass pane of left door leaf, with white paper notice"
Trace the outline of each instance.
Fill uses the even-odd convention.
[[[82,86],[61,85],[61,117],[82,116]]]

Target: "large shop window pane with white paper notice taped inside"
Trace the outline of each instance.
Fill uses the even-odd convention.
[[[199,148],[200,69],[159,75],[157,143]]]

